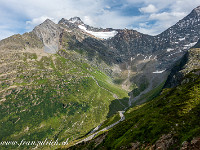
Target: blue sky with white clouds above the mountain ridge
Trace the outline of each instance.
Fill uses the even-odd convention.
[[[49,18],[79,16],[95,27],[156,35],[200,5],[200,0],[0,0],[0,39],[31,31]]]

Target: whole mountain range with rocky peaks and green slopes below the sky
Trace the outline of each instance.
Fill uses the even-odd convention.
[[[81,148],[156,149],[165,138],[165,148],[180,147],[199,133],[199,37],[200,6],[156,36],[74,17],[1,40],[0,140],[73,141],[127,110],[125,121],[100,135],[103,143]]]

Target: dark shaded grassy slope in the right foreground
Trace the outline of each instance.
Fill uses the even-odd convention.
[[[170,149],[199,136],[199,73],[200,70],[195,70],[187,74],[180,86],[164,89],[152,101],[130,108],[125,113],[126,120],[108,131],[101,144],[97,144],[96,138],[70,149],[131,149],[134,145],[151,148],[164,135],[170,135],[168,143],[173,141]]]

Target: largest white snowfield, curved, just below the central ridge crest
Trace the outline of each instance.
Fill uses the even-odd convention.
[[[100,39],[109,39],[109,38],[112,38],[114,37],[118,32],[117,31],[110,31],[110,32],[93,32],[93,31],[89,31],[87,30],[87,28],[83,25],[79,25],[78,26],[81,30],[91,34],[91,35],[94,35],[95,37],[97,38],[100,38]]]

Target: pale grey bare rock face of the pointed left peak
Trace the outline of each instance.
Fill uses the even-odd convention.
[[[45,52],[56,53],[58,51],[61,29],[53,21],[47,19],[35,27],[33,33],[43,42]]]

